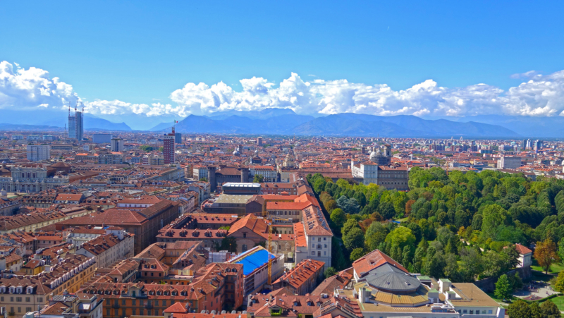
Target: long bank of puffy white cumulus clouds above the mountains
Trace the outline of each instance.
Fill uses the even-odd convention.
[[[15,64],[15,63],[14,63]],[[80,101],[72,85],[39,68],[25,70],[17,64],[0,63],[0,109],[53,107]],[[276,85],[266,78],[240,80],[241,91],[219,82],[207,85],[189,82],[171,92],[171,104],[133,104],[120,100],[85,101],[85,111],[99,115],[188,116],[219,111],[258,111],[265,108],[293,109],[298,114],[376,114],[415,116],[467,116],[509,114],[564,116],[564,71],[542,75],[529,71],[512,75],[526,82],[509,90],[476,84],[441,87],[425,80],[405,90],[386,84],[368,85],[348,80],[302,80],[296,73]]]

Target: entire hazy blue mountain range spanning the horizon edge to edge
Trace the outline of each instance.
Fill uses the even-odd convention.
[[[60,130],[67,121],[66,112],[2,110],[0,130]],[[136,115],[137,117],[141,115]],[[115,116],[104,116],[116,118]],[[137,130],[170,131],[170,116],[144,117],[140,123],[131,117]],[[85,114],[85,130],[123,130],[127,123],[114,123],[106,118]],[[180,133],[238,133],[261,135],[333,135],[381,137],[564,137],[564,116],[531,117],[480,115],[465,117],[419,118],[417,116],[374,116],[366,114],[334,114],[309,116],[291,109],[261,111],[225,111],[208,116],[190,115],[178,118]],[[161,122],[155,125],[155,122]],[[129,122],[129,121],[128,121]],[[152,128],[149,128],[153,126]]]

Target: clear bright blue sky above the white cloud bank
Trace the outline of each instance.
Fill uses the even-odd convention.
[[[176,106],[171,92],[189,82],[241,91],[241,79],[276,87],[291,73],[394,91],[433,80],[507,92],[526,81],[515,73],[564,69],[562,1],[4,1],[1,8],[0,61],[48,71],[85,101]]]

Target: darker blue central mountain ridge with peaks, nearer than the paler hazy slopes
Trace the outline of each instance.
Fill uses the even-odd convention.
[[[176,131],[272,135],[379,135],[381,137],[520,137],[520,134],[508,128],[473,121],[461,123],[446,119],[427,120],[407,115],[374,116],[352,113],[314,118],[298,115],[293,111],[282,115],[269,111],[255,118],[237,115],[227,117],[190,115],[176,124]]]

